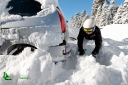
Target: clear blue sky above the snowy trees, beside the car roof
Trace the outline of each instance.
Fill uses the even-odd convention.
[[[87,14],[91,15],[93,0],[58,0],[58,2],[68,21],[71,16],[77,12],[82,12],[82,10],[86,10]],[[116,5],[123,2],[124,0],[115,0]]]

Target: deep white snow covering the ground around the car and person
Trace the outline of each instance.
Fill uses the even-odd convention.
[[[56,65],[52,55],[42,49],[32,53],[26,48],[18,56],[1,55],[0,85],[128,85],[127,27],[121,24],[101,29],[103,47],[96,60],[91,56],[93,41],[86,46],[87,54],[80,57],[75,54],[77,41],[70,39],[71,57]],[[78,28],[70,28],[70,36],[77,33]],[[5,80],[4,72],[12,80]]]

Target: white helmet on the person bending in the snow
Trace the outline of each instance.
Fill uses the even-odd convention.
[[[93,18],[89,18],[84,21],[83,24],[84,28],[89,29],[89,28],[94,28],[94,26],[95,26],[95,22]]]

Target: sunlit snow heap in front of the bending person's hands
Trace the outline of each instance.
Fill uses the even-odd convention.
[[[60,85],[127,85],[127,56],[123,56],[125,62],[121,57],[116,58],[110,66],[99,65],[91,56],[79,58],[71,79]]]

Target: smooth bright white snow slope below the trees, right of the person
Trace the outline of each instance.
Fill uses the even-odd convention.
[[[104,38],[110,38],[116,41],[122,41],[125,38],[128,38],[127,34],[128,24],[113,24],[103,27],[101,30],[102,36]]]

